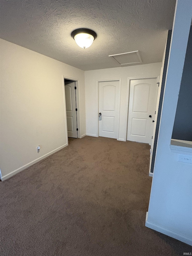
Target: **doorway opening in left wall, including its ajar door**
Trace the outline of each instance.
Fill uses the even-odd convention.
[[[78,95],[77,82],[69,79],[64,79],[66,117],[67,117],[67,136],[68,143],[71,143],[78,136]]]

